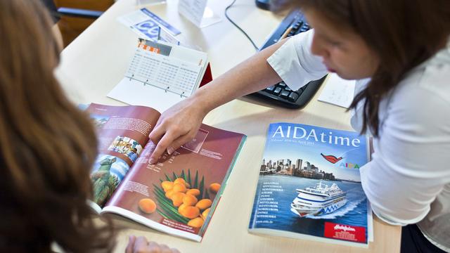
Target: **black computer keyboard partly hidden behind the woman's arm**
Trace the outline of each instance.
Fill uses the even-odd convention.
[[[303,13],[298,10],[292,11],[283,19],[281,24],[278,25],[276,30],[271,34],[271,37],[264,42],[259,50],[261,51],[285,37],[290,37],[299,34],[300,32],[306,32],[307,30],[309,30],[309,25],[305,20]],[[320,88],[325,78],[326,76],[319,80],[309,82],[297,91],[289,89],[285,82],[280,82],[261,91],[252,93],[249,96],[262,98],[266,102],[280,105],[285,108],[299,109],[307,105],[309,100],[311,100],[316,91]]]

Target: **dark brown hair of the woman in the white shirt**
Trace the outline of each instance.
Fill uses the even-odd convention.
[[[450,36],[449,0],[274,0],[276,11],[313,8],[331,22],[348,27],[380,58],[371,82],[350,108],[364,103],[364,133],[379,135],[380,101],[406,74],[445,46]]]

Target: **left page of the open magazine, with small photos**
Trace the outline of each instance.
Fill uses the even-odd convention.
[[[141,106],[94,103],[86,111],[94,119],[98,136],[98,157],[91,171],[91,205],[99,212],[142,153],[160,113]]]

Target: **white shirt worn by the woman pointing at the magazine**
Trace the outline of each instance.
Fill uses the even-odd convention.
[[[326,74],[311,53],[314,30],[292,37],[267,62],[290,89]],[[356,91],[370,79],[356,82]],[[360,131],[362,103],[351,124]],[[441,249],[450,249],[450,42],[411,70],[380,103],[380,135],[361,184],[373,212],[394,225],[418,223]]]

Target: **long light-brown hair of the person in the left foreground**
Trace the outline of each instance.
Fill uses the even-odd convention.
[[[110,251],[86,200],[97,143],[91,120],[53,76],[58,45],[36,0],[0,0],[0,252]]]

